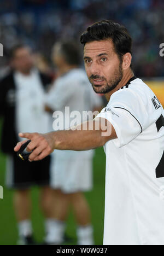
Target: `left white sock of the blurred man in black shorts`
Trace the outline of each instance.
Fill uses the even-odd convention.
[[[31,236],[32,235],[32,225],[31,220],[22,220],[17,224],[19,236]]]

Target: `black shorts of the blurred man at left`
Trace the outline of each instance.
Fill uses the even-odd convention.
[[[41,161],[22,161],[16,154],[7,159],[6,185],[8,188],[27,189],[32,185],[49,185],[50,156]]]

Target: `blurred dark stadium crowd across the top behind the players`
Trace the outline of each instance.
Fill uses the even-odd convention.
[[[139,77],[164,75],[159,45],[163,43],[162,0],[1,0],[0,42],[4,57],[1,74],[8,65],[8,50],[17,42],[29,44],[50,62],[55,40],[75,38],[101,19],[120,22],[133,38],[134,72]]]

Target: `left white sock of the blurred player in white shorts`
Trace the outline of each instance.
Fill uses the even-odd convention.
[[[65,233],[65,222],[61,222],[57,219],[45,220],[45,242],[50,244],[61,244],[63,242],[63,236]]]

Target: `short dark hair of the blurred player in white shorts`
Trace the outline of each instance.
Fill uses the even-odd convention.
[[[65,57],[66,62],[69,65],[79,66],[81,63],[81,54],[79,46],[73,40],[59,42],[61,46],[61,53]]]

